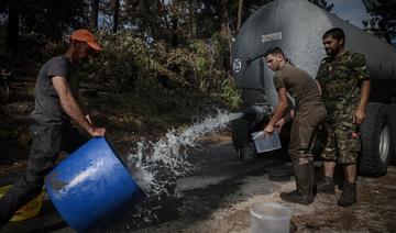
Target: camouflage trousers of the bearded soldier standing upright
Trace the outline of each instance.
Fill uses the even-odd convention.
[[[336,122],[336,123],[333,123]],[[361,151],[361,138],[351,137],[353,124],[351,121],[323,122],[322,152],[321,157],[339,164],[356,164]]]

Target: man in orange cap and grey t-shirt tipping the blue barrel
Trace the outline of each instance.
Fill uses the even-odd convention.
[[[66,53],[53,57],[40,69],[34,89],[33,141],[28,169],[0,199],[0,228],[18,209],[37,197],[44,177],[62,151],[72,153],[89,140],[88,135],[72,126],[72,120],[90,136],[105,135],[105,127],[94,126],[77,101],[78,80],[75,76],[77,66],[100,51],[92,33],[80,29],[73,32]]]

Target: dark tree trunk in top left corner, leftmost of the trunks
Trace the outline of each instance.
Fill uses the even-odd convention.
[[[7,47],[11,51],[12,54],[18,53],[18,42],[19,42],[19,19],[20,13],[18,7],[10,7],[8,15],[8,25],[7,25]]]

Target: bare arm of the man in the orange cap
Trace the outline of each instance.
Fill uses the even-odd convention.
[[[91,133],[94,129],[85,118],[79,104],[73,96],[68,81],[61,76],[53,77],[52,81],[57,95],[59,96],[61,104],[65,112],[79,125],[81,125],[84,130]]]

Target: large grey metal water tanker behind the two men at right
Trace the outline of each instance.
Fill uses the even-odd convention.
[[[256,156],[251,133],[263,130],[277,104],[273,71],[266,67],[264,53],[279,46],[295,66],[315,78],[326,57],[322,34],[332,27],[345,32],[345,48],[363,54],[370,70],[370,102],[361,125],[360,173],[384,175],[396,159],[396,47],[307,0],[277,0],[246,20],[232,45],[232,75],[246,113],[234,122],[232,132],[242,160]]]

